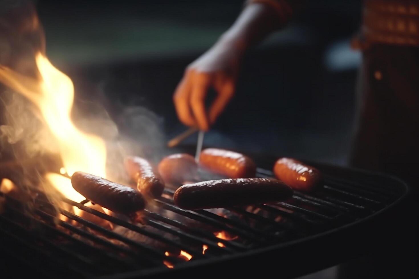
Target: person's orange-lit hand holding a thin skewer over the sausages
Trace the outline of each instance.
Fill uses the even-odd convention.
[[[234,95],[242,51],[233,44],[218,42],[185,71],[173,95],[179,120],[208,131]],[[217,97],[209,109],[205,98],[210,87]]]

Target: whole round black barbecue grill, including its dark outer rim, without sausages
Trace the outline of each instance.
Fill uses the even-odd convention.
[[[268,170],[272,162],[257,163],[258,177],[273,177]],[[145,210],[145,225],[63,198],[67,205],[108,220],[113,230],[65,208],[58,210],[69,220],[60,220],[40,189],[29,187],[38,192],[37,206],[31,209],[25,202],[0,194],[6,200],[0,215],[3,264],[14,275],[30,270],[54,278],[178,278],[191,274],[247,278],[260,277],[261,272],[288,278],[380,246],[388,236],[383,228],[388,228],[389,216],[398,212],[407,185],[384,174],[312,165],[324,174],[321,187],[310,194],[295,192],[290,200],[276,204],[218,212],[182,210],[173,204],[174,190],[165,189]],[[220,239],[215,231],[234,237]],[[186,251],[191,260],[177,256],[178,251]]]

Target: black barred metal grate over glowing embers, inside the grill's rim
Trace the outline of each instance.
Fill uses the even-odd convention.
[[[134,225],[63,198],[67,205],[108,220],[114,225],[113,230],[64,208],[59,211],[70,221],[59,220],[41,192],[32,214],[28,214],[24,203],[0,193],[7,201],[0,215],[0,239],[8,240],[8,245],[3,245],[14,260],[45,276],[142,276],[167,271],[163,261],[177,269],[192,262],[204,264],[210,259],[228,259],[260,248],[303,241],[367,218],[400,200],[407,191],[398,180],[390,178],[383,180],[373,174],[340,168],[321,170],[325,174],[324,184],[316,192],[295,192],[290,200],[270,205],[182,210],[173,204],[174,191],[165,189],[163,197],[145,210],[146,225]],[[257,175],[273,174],[258,168]],[[219,231],[234,239],[217,238],[215,232]],[[205,253],[203,245],[207,246]],[[180,250],[189,253],[191,261],[178,257]]]

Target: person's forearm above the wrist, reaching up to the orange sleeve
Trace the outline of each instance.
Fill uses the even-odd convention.
[[[220,37],[218,44],[227,44],[244,52],[281,28],[290,13],[290,6],[285,1],[283,5],[278,4],[275,7],[265,3],[250,3],[245,6],[233,26]]]

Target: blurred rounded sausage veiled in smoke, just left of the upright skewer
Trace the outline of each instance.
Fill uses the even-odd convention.
[[[158,164],[158,172],[163,181],[173,185],[194,180],[197,171],[198,165],[194,157],[185,153],[169,155]]]

